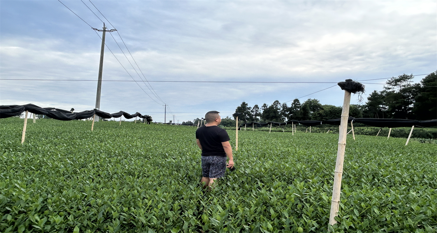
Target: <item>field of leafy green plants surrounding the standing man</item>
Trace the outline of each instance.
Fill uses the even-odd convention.
[[[208,192],[195,127],[118,124],[0,119],[0,232],[328,232],[338,135],[240,131]],[[437,145],[347,137],[333,231],[436,232]]]

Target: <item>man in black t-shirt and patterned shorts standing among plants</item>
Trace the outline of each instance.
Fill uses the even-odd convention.
[[[211,189],[217,178],[225,175],[226,167],[234,167],[232,147],[226,130],[218,127],[222,118],[218,111],[208,111],[205,114],[206,124],[196,131],[196,142],[202,150],[202,179],[203,188]],[[226,163],[226,156],[229,163]]]

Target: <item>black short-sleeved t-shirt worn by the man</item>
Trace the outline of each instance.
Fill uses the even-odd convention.
[[[202,156],[222,156],[226,157],[223,142],[229,141],[226,130],[217,125],[202,126],[196,131],[196,139],[199,139],[202,146]]]

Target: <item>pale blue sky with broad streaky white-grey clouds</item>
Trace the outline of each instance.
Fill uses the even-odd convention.
[[[337,82],[437,70],[436,0],[91,0],[101,14],[89,0],[61,2],[0,1],[1,79],[43,79],[0,80],[1,105],[93,109],[102,32],[92,28],[102,21],[118,31],[106,33],[101,111],[138,111],[155,122],[164,122],[165,104],[166,122],[174,115],[176,123],[211,110],[231,116],[243,101],[341,106]],[[385,81],[363,81],[364,100],[384,86],[368,83]]]

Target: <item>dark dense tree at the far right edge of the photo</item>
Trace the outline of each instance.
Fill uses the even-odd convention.
[[[414,97],[413,114],[416,119],[437,118],[437,71],[430,73],[420,81],[418,94]]]

